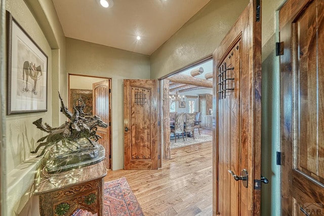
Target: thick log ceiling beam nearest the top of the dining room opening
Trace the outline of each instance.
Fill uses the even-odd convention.
[[[168,77],[167,79],[169,79],[171,82],[177,82],[181,84],[196,85],[197,87],[213,88],[213,81],[211,80],[192,77],[184,74],[176,74],[171,77]]]

